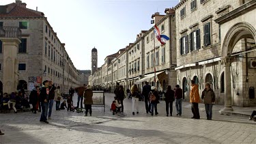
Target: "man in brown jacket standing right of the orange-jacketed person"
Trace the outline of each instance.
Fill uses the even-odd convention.
[[[212,105],[215,102],[215,93],[210,87],[210,83],[205,84],[201,98],[204,100],[205,112],[208,120],[212,120]]]

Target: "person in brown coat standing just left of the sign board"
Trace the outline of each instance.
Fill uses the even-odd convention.
[[[84,97],[85,97],[85,116],[87,116],[87,113],[89,111],[89,114],[91,116],[92,110],[91,110],[91,105],[94,104],[92,100],[93,92],[91,90],[91,86],[87,85],[87,89],[85,89]]]

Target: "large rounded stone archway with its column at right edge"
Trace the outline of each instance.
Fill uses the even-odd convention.
[[[243,15],[244,16],[244,15]],[[246,17],[246,16],[244,16]],[[248,16],[249,17],[249,16]],[[245,20],[245,19],[243,19]],[[240,55],[242,55],[242,59],[244,59],[247,62],[247,58],[246,55],[250,54],[250,46],[248,46],[248,42],[247,40],[252,41],[254,44],[256,42],[256,29],[255,29],[255,24],[251,25],[251,21],[247,20],[247,22],[241,22],[241,23],[237,23],[237,21],[230,21],[229,23],[223,23],[222,25],[224,25],[224,27],[228,24],[231,25],[231,23],[234,23],[234,25],[227,31],[224,30],[223,31],[225,33],[223,34],[223,41],[222,43],[222,62],[223,62],[223,66],[224,66],[224,93],[225,93],[225,108],[222,109],[221,111],[233,111],[232,108],[232,104],[233,104],[233,100],[232,97],[236,96],[232,93],[233,91],[238,91],[237,88],[231,88],[231,75],[233,75],[233,72],[231,74],[231,65],[232,63],[237,63],[237,58],[240,57]],[[221,26],[223,27],[223,26]],[[222,29],[221,29],[222,30]],[[240,53],[240,51],[237,51],[236,49],[236,44],[238,44],[238,42],[244,41],[244,44],[239,46],[240,51],[243,51],[245,54]],[[238,55],[232,55],[234,53],[238,52]],[[240,54],[239,54],[240,53]],[[244,72],[245,70],[249,70],[248,69],[248,63],[246,63],[245,61],[240,61],[244,67],[240,66],[240,68],[242,69],[242,72],[240,72],[240,74],[246,74],[246,72]],[[232,69],[233,70],[233,69]],[[242,75],[240,75],[242,76]],[[248,77],[248,74],[246,75],[246,77]],[[240,89],[240,91],[248,91],[248,87],[246,87],[245,83],[248,83],[248,81],[246,81],[246,78],[242,79],[240,82],[240,87],[242,89]],[[245,102],[246,98],[248,98],[248,95],[244,95],[244,93],[240,93],[242,94],[242,96],[236,96],[236,104],[238,105],[242,105],[242,106],[249,106],[248,102]]]

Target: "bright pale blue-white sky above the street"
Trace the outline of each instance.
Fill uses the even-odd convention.
[[[0,0],[0,5],[15,0]],[[136,40],[152,27],[155,12],[165,14],[179,0],[23,0],[27,8],[44,12],[78,70],[91,70],[91,49],[98,50],[98,67],[107,55]]]

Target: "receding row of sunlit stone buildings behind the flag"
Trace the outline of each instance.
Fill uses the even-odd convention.
[[[175,87],[176,72],[176,48],[175,48],[175,11],[173,9],[165,10],[166,15],[155,13],[152,15],[154,23],[162,28],[161,34],[167,35],[171,40],[164,46],[156,41],[156,55],[154,55],[154,27],[148,31],[141,31],[137,35],[135,42],[128,44],[126,48],[117,53],[107,56],[105,63],[95,74],[90,76],[91,85],[100,86],[104,89],[115,89],[115,83],[119,82],[125,89],[130,89],[133,84],[139,85],[139,90],[145,81],[158,87],[158,91],[165,91],[167,85]],[[151,37],[150,37],[151,36]],[[147,40],[150,39],[150,40]],[[156,39],[156,38],[155,38]],[[152,55],[150,67],[147,66],[147,54]],[[152,60],[156,56],[156,74],[157,83],[154,84],[154,63]],[[107,68],[107,70],[106,70]],[[98,75],[102,73],[102,77]],[[104,78],[104,81],[100,79]]]

